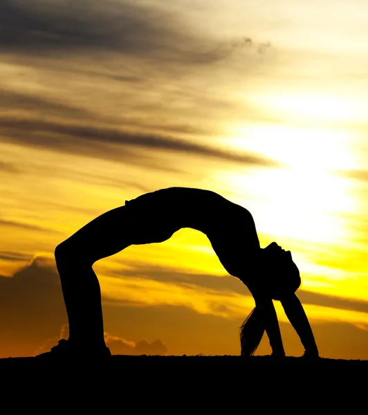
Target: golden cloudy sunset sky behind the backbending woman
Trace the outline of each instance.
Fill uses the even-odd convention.
[[[187,186],[291,250],[320,356],[368,359],[367,17],[363,0],[2,0],[0,358],[67,338],[58,243]],[[204,234],[93,268],[112,353],[239,355],[254,301]]]

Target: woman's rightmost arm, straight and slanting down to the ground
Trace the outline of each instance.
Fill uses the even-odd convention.
[[[291,325],[300,337],[305,349],[304,356],[318,358],[318,348],[315,344],[313,331],[309,324],[308,317],[298,297],[293,294],[284,299],[281,299],[281,304]]]

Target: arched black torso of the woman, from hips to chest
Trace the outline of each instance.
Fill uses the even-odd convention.
[[[135,207],[140,226],[151,232],[151,242],[165,241],[181,228],[203,232],[232,275],[241,258],[259,249],[250,212],[210,190],[168,187],[142,194],[127,206]]]

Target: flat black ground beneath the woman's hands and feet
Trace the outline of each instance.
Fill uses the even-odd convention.
[[[0,359],[3,402],[26,405],[28,413],[32,408],[43,412],[42,406],[48,414],[59,407],[80,413],[94,413],[98,407],[98,412],[217,414],[220,405],[226,412],[249,413],[258,407],[263,413],[269,407],[358,414],[365,407],[367,369],[368,360],[270,356],[116,355],[108,362]]]

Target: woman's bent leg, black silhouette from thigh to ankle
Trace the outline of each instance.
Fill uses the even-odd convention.
[[[101,291],[95,261],[131,245],[132,226],[125,206],[89,222],[55,249],[55,259],[69,322],[69,341],[76,347],[104,347]]]

